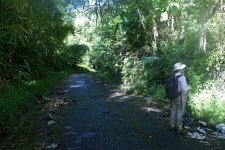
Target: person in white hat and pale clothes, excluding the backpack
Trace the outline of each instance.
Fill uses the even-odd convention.
[[[185,64],[180,62],[174,64],[174,77],[177,78],[177,90],[181,93],[179,97],[171,100],[171,114],[170,114],[170,127],[171,130],[175,130],[176,126],[179,133],[182,133],[182,122],[183,116],[186,111],[187,95],[188,95],[188,85],[186,82],[186,77],[184,76]]]

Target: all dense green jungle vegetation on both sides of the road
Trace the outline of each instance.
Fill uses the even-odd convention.
[[[81,58],[128,93],[165,101],[173,64],[185,63],[192,113],[225,122],[223,0],[1,0],[0,7],[0,126],[32,103],[27,89],[59,80]]]

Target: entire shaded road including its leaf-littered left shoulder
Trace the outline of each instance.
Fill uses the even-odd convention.
[[[224,141],[199,141],[170,131],[168,108],[126,95],[92,73],[71,75],[46,96],[35,113],[24,117],[27,123],[15,125],[15,134],[0,143],[0,150],[225,149]]]

